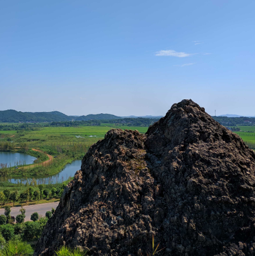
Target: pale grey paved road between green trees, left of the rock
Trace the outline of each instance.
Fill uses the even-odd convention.
[[[24,206],[23,208],[26,209],[25,221],[26,222],[29,221],[30,217],[31,217],[31,214],[34,213],[34,212],[38,212],[39,215],[41,214],[42,216],[45,216],[45,213],[47,211],[51,211],[51,208],[56,209],[56,206],[58,206],[58,203],[59,202]],[[15,216],[15,218],[16,218],[16,216],[18,214],[20,214],[20,211],[19,211],[20,209],[21,209],[21,207],[12,207],[12,208],[10,208],[10,210],[11,210],[10,215]],[[5,211],[5,209],[0,209],[0,215],[3,214],[4,211]]]

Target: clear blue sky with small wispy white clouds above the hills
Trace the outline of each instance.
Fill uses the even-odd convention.
[[[13,0],[0,8],[0,110],[255,115],[255,1]]]

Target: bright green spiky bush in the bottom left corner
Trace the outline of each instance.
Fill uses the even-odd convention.
[[[33,255],[33,249],[30,244],[20,239],[10,240],[1,251],[1,256],[30,256]]]

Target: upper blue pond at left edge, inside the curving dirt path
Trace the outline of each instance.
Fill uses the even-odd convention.
[[[24,153],[16,152],[0,152],[0,163],[7,164],[7,166],[17,166],[23,163],[31,164],[34,163],[36,157],[26,155]]]

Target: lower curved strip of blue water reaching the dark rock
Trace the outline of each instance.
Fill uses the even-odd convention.
[[[75,176],[77,170],[80,170],[82,165],[82,160],[75,160],[72,163],[66,164],[66,166],[58,174],[52,176],[34,176],[37,184],[56,184],[62,183],[63,181],[68,180],[69,177]],[[5,177],[5,180],[10,183],[23,183],[31,182],[33,177],[24,177],[24,178],[15,178],[15,177]],[[3,181],[3,178],[1,179]]]

